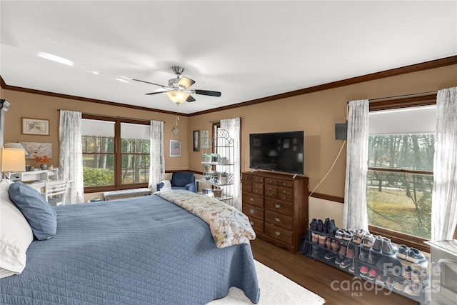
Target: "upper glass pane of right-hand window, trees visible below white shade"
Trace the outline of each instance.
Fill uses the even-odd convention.
[[[433,171],[433,154],[433,134],[384,135],[368,138],[368,167]]]

